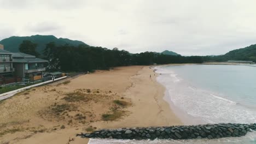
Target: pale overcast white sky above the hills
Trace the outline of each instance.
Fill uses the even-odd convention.
[[[55,35],[132,53],[222,55],[256,44],[255,0],[0,0],[0,40]]]

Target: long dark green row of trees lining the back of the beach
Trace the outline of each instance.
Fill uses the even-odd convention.
[[[24,41],[20,51],[38,56],[36,44]],[[26,49],[21,47],[26,47]],[[88,45],[56,45],[48,43],[40,58],[49,61],[49,70],[62,71],[91,71],[96,69],[109,69],[127,65],[152,65],[168,63],[202,63],[201,56],[172,56],[156,52],[141,52],[132,54],[125,50],[114,48],[112,50]]]

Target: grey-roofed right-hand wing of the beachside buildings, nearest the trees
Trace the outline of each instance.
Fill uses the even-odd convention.
[[[13,53],[13,67],[15,75],[22,77],[23,80],[39,80],[43,78],[44,65],[48,61],[28,55],[22,52]]]

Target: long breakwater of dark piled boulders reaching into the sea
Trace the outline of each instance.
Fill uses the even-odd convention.
[[[182,125],[172,127],[149,127],[149,128],[121,128],[102,129],[88,134],[77,136],[101,139],[130,139],[130,140],[154,140],[154,139],[218,139],[221,137],[245,136],[247,132],[256,130],[254,124],[205,124],[205,125]]]

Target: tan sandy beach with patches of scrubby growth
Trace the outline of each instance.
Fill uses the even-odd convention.
[[[75,134],[182,125],[156,76],[148,66],[118,67],[19,93],[0,102],[0,143],[86,143]]]

